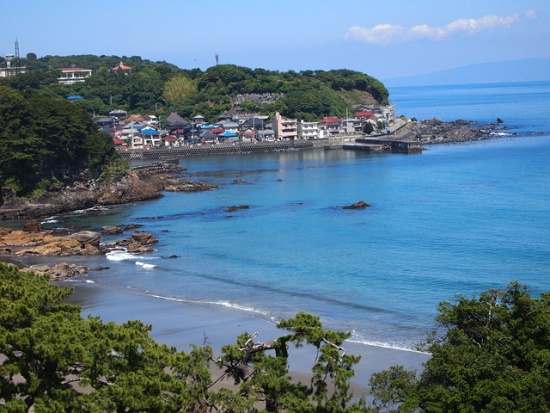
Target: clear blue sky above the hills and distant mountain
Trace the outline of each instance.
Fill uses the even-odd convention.
[[[550,58],[549,0],[0,0],[0,55],[117,55],[379,79]]]

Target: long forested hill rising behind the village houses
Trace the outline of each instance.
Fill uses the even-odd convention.
[[[112,70],[120,62],[131,70]],[[156,113],[161,119],[177,112],[183,117],[200,114],[211,120],[222,113],[240,111],[263,115],[280,112],[286,117],[318,120],[327,115],[345,116],[354,105],[384,105],[389,100],[388,90],[379,80],[347,69],[278,72],[216,65],[202,71],[136,56],[38,58],[32,53],[20,64],[27,72],[0,79],[0,84],[21,92],[40,89],[63,98],[79,95],[84,99],[75,103],[96,115],[123,109]],[[73,85],[59,84],[63,67],[91,69],[92,77]]]

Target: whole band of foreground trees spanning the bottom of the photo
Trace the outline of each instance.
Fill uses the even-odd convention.
[[[518,282],[439,306],[443,334],[420,375],[401,366],[375,373],[371,400],[354,397],[359,357],[349,333],[298,313],[282,334],[238,336],[214,356],[153,340],[151,326],[84,319],[71,294],[0,264],[0,408],[10,412],[549,412],[550,293]],[[309,382],[289,374],[291,346],[316,353]],[[213,369],[217,365],[220,370]],[[213,372],[217,372],[213,375]],[[227,380],[231,380],[228,382]],[[225,383],[216,388],[214,385]]]

